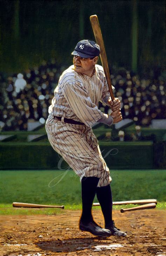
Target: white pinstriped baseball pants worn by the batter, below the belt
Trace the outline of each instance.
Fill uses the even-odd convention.
[[[98,187],[111,182],[109,168],[101,155],[92,128],[65,123],[49,115],[46,131],[53,149],[70,165],[82,180],[83,177],[99,178]]]

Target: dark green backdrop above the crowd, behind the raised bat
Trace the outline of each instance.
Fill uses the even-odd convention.
[[[21,72],[55,57],[70,64],[77,41],[94,36],[97,14],[109,63],[131,69],[133,1],[1,0],[0,71]],[[165,1],[136,1],[138,69],[164,66]],[[134,14],[135,15],[135,14]]]

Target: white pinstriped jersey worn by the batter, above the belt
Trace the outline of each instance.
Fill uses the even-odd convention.
[[[92,126],[103,116],[98,109],[98,102],[106,103],[108,97],[110,93],[102,66],[95,65],[95,73],[89,77],[77,73],[74,65],[71,65],[59,79],[58,91],[49,107],[49,114]]]

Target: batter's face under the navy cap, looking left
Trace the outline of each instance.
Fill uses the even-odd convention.
[[[77,73],[82,73],[87,76],[91,76],[94,70],[95,64],[97,63],[98,57],[82,58],[74,55],[73,64]]]

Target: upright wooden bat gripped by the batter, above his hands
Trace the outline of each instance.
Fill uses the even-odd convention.
[[[108,61],[107,61],[107,57],[106,57],[102,32],[101,32],[101,29],[100,29],[100,25],[99,25],[99,22],[98,22],[97,15],[91,15],[90,16],[90,22],[91,22],[91,25],[92,25],[92,29],[94,31],[94,36],[95,36],[95,39],[96,39],[96,43],[100,46],[100,58],[101,58],[101,61],[102,61],[106,81],[108,83],[111,99],[113,101],[114,100],[114,95],[113,95],[113,91],[112,91],[112,84],[111,84],[110,72],[109,72],[109,68],[108,68]]]

